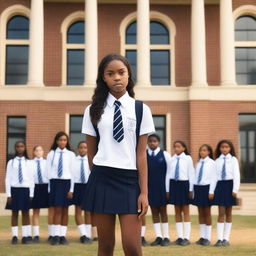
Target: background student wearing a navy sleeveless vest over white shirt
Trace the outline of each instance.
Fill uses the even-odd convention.
[[[165,178],[171,156],[168,152],[161,150],[159,144],[160,137],[157,134],[148,136],[148,200],[156,234],[156,239],[151,246],[170,244]]]

